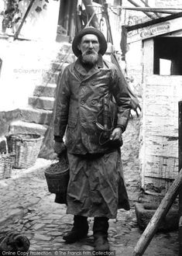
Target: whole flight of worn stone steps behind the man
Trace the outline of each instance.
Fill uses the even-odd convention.
[[[53,116],[53,105],[57,90],[57,79],[61,70],[64,70],[70,62],[75,61],[75,57],[70,53],[70,44],[63,45],[60,53],[57,53],[57,59],[50,63],[50,70],[43,74],[42,85],[36,85],[33,95],[28,99],[28,107],[19,109],[19,120],[12,122],[9,126],[10,133],[39,133],[45,136],[47,128],[50,126]],[[63,61],[66,61],[63,63]],[[53,140],[53,132],[49,137]],[[52,149],[52,144],[44,145],[46,150],[41,157]],[[46,152],[47,151],[47,152]],[[41,152],[40,152],[41,153]]]

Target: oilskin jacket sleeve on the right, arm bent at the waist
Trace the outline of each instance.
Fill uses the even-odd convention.
[[[129,122],[130,109],[132,109],[132,99],[129,95],[127,89],[126,81],[121,74],[121,71],[118,70],[118,67],[112,69],[112,81],[111,89],[112,95],[115,98],[117,105],[117,127],[122,128],[122,132],[125,131],[125,128]]]

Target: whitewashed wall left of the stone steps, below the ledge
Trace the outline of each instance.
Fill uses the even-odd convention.
[[[61,44],[7,40],[0,43],[0,111],[25,107],[35,86],[43,83],[43,76],[56,59]]]

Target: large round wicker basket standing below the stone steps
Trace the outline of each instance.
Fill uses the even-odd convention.
[[[14,168],[29,168],[35,164],[43,137],[35,133],[17,133],[7,137],[9,152],[15,154]]]

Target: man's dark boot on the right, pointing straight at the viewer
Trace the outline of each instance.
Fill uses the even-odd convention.
[[[94,251],[109,251],[108,218],[94,218]]]

